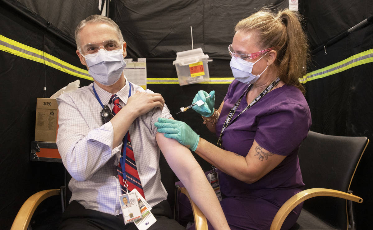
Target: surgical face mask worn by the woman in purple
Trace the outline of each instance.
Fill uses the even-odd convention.
[[[260,58],[262,59],[264,55]],[[237,79],[237,81],[243,82],[245,84],[253,84],[256,82],[260,76],[264,73],[266,69],[261,72],[259,75],[254,75],[251,73],[253,71],[253,66],[255,63],[257,63],[260,59],[258,59],[256,62],[247,62],[241,58],[232,57],[231,63],[229,65],[231,66],[233,77]]]

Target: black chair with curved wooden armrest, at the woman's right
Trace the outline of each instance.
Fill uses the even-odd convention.
[[[363,198],[351,194],[350,185],[368,143],[366,137],[309,131],[298,153],[305,190],[286,201],[271,229],[279,230],[289,212],[304,202],[292,230],[354,230],[353,205],[363,202]]]

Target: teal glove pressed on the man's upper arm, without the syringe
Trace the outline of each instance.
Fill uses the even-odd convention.
[[[197,149],[200,135],[195,133],[185,122],[159,117],[158,122],[154,125],[158,127],[158,132],[164,133],[166,138],[175,139],[192,151]]]

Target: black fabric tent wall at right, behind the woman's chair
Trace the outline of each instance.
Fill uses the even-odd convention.
[[[312,1],[304,4],[307,37],[311,50],[373,15],[373,2]],[[373,48],[373,25],[368,24],[311,57],[308,72],[340,62]],[[360,160],[350,189],[364,199],[354,204],[357,229],[370,229],[373,198],[373,63],[352,67],[305,84],[311,109],[311,130],[338,136],[366,136],[370,144]],[[325,152],[325,154],[329,154]],[[335,156],[335,157],[338,157]],[[322,159],[320,159],[322,160]],[[302,167],[302,166],[301,166]],[[327,175],[325,175],[327,176]],[[326,210],[325,210],[326,211]]]

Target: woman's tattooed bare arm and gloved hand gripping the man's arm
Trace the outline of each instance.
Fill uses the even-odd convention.
[[[185,122],[158,118],[158,122],[154,125],[158,127],[158,132],[164,133],[166,138],[177,140],[224,173],[245,183],[256,182],[285,158],[285,156],[273,154],[261,148],[255,140],[245,157],[217,148],[205,139],[200,138]],[[265,161],[258,161],[258,155],[270,155],[271,157]]]

